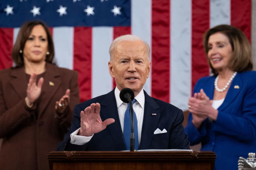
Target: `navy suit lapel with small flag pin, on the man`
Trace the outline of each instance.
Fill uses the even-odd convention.
[[[144,91],[145,95],[145,106],[144,106],[144,117],[143,124],[141,130],[141,139],[139,149],[148,149],[152,137],[154,135],[154,131],[156,130],[156,126],[158,124],[158,120],[160,118],[160,110],[158,104],[153,100],[152,97],[148,96],[148,94]],[[156,113],[156,115],[152,115],[152,113]]]

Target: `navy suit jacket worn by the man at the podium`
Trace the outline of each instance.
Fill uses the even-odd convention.
[[[145,94],[145,107],[141,140],[139,149],[189,149],[189,141],[182,126],[183,112],[177,107],[160,101]],[[92,103],[100,103],[100,117],[104,121],[114,118],[115,122],[99,133],[85,145],[73,145],[70,143],[70,134],[80,128],[80,112]],[[156,115],[152,115],[156,113]],[[167,133],[154,134],[154,131],[166,129]],[[74,118],[65,135],[64,140],[58,144],[57,150],[88,150],[88,151],[120,151],[125,150],[123,132],[117,112],[117,104],[114,90],[108,94],[92,98],[82,102],[74,108]]]

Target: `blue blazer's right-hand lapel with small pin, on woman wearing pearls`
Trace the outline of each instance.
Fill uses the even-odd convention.
[[[233,100],[236,98],[236,96],[241,92],[242,88],[243,88],[243,81],[240,78],[240,74],[237,73],[236,77],[234,77],[228,89],[228,93],[226,94],[224,102],[218,108],[218,110],[224,110],[227,106],[229,106],[230,103],[232,103]]]

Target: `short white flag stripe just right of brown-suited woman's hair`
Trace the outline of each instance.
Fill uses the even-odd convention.
[[[54,27],[53,42],[55,50],[55,62],[59,67],[73,69],[73,27]]]

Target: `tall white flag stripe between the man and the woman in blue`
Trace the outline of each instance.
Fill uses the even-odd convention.
[[[191,1],[171,1],[170,103],[187,110],[191,96]]]

